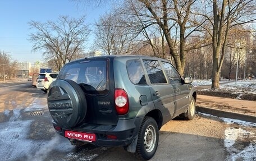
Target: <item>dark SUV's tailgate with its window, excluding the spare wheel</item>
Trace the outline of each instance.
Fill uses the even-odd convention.
[[[84,91],[87,102],[84,122],[116,125],[118,121],[114,102],[113,66],[110,61],[106,58],[89,58],[71,63],[60,76],[60,79],[75,81]]]

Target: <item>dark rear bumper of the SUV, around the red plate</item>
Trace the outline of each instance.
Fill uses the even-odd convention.
[[[119,120],[116,126],[83,123],[74,128],[61,128],[56,131],[64,137],[66,130],[95,134],[96,140],[90,143],[97,146],[127,146],[138,135],[142,121],[143,117]],[[57,126],[55,122],[53,126]],[[117,139],[109,139],[108,135],[116,136]]]

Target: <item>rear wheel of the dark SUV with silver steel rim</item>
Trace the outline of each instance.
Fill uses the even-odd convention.
[[[135,157],[149,160],[157,151],[159,140],[157,122],[152,117],[145,117],[141,123]]]

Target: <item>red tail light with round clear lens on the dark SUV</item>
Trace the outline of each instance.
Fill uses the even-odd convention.
[[[115,106],[117,114],[126,114],[129,111],[128,95],[124,89],[115,90]]]

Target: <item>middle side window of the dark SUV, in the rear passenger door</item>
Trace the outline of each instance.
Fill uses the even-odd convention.
[[[149,80],[152,84],[167,83],[166,77],[158,61],[143,60],[148,73]]]

